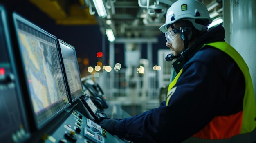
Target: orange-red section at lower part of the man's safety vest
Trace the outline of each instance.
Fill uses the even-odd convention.
[[[240,134],[242,128],[243,111],[229,116],[216,116],[193,137],[202,139],[227,139]]]

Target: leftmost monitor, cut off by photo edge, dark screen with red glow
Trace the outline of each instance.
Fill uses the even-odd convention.
[[[29,126],[9,35],[7,12],[0,5],[0,141],[21,143],[30,137]]]

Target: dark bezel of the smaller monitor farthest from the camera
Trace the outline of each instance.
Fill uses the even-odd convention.
[[[77,99],[79,99],[79,97],[83,96],[84,95],[84,89],[83,89],[83,82],[81,81],[81,88],[82,88],[82,92],[79,96],[77,96],[76,98],[72,99],[71,97],[71,92],[70,92],[70,88],[69,88],[69,84],[68,84],[68,81],[67,81],[67,75],[66,75],[66,70],[65,70],[65,65],[64,65],[64,59],[63,59],[63,54],[62,54],[62,50],[61,50],[61,44],[64,44],[66,46],[68,46],[69,48],[72,48],[74,50],[74,53],[75,53],[75,56],[76,56],[76,48],[74,46],[72,46],[71,44],[68,44],[67,42],[61,40],[61,39],[58,39],[58,48],[59,48],[59,53],[61,55],[61,64],[62,64],[62,67],[63,67],[63,72],[65,73],[64,74],[64,78],[65,78],[65,82],[66,82],[66,85],[67,85],[67,90],[68,90],[68,96],[70,98],[70,101],[72,103],[74,103]],[[78,65],[78,61],[77,61],[77,56],[76,56],[76,66],[79,68],[79,65]],[[80,74],[80,70],[78,69],[78,72],[79,72],[79,78],[81,79],[81,74]]]

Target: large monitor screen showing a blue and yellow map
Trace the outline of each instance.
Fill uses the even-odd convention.
[[[55,36],[13,13],[36,128],[70,106]]]

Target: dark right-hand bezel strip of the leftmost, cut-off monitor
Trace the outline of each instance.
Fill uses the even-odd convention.
[[[2,30],[3,30],[3,36],[4,36],[4,41],[6,50],[7,50],[7,56],[9,57],[9,64],[10,64],[10,69],[12,70],[13,78],[15,80],[12,80],[15,84],[14,90],[16,93],[16,99],[18,102],[18,110],[20,111],[20,119],[22,120],[21,122],[23,123],[22,128],[25,130],[25,134],[22,136],[22,138],[19,139],[20,142],[27,141],[29,137],[31,136],[31,132],[29,130],[29,123],[27,119],[27,112],[24,104],[24,99],[22,98],[22,88],[20,85],[20,80],[18,78],[18,70],[16,68],[16,60],[13,52],[13,45],[12,45],[12,38],[10,34],[10,27],[9,27],[9,19],[8,19],[8,14],[9,11],[5,9],[3,5],[0,4],[0,19],[2,20]],[[10,75],[11,76],[11,75]]]

